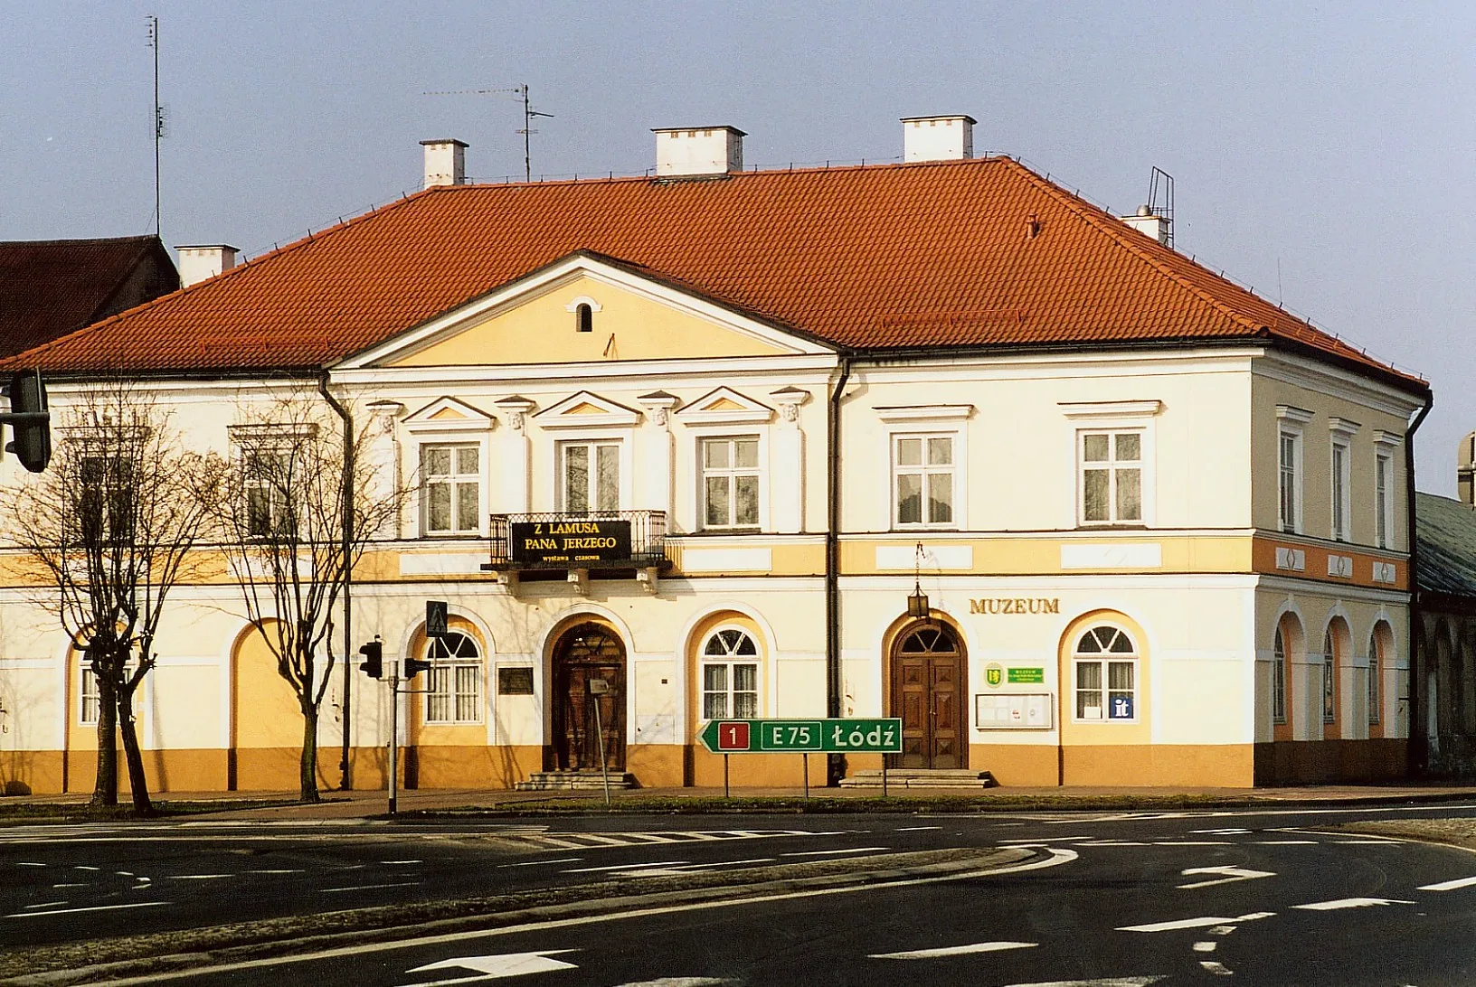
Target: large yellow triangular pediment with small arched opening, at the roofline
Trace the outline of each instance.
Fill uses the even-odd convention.
[[[831,348],[660,277],[574,254],[341,366],[525,366],[825,353]]]

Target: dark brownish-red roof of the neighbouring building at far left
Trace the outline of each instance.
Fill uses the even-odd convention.
[[[38,347],[180,286],[156,236],[0,243],[0,356]]]

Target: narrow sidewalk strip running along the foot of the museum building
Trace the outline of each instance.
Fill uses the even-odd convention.
[[[1312,785],[1297,788],[987,788],[987,789],[928,789],[893,788],[889,801],[897,811],[918,811],[917,801],[943,803],[943,811],[1072,811],[1072,810],[1212,810],[1216,807],[1244,808],[1262,806],[1266,808],[1290,808],[1294,806],[1379,806],[1411,803],[1476,801],[1476,786],[1445,785]],[[384,816],[387,795],[381,791],[323,791],[317,804],[285,804],[272,807],[232,808],[233,804],[260,801],[289,801],[297,792],[162,792],[151,794],[156,803],[218,803],[220,811],[190,814],[190,822],[313,822],[350,820]],[[613,791],[615,811],[642,811],[648,806],[652,813],[682,811],[680,803],[692,803],[695,813],[720,813],[723,791],[720,788],[641,788]],[[86,803],[90,792],[66,795],[10,795],[0,798],[0,811],[6,806],[38,804],[65,806]],[[793,813],[803,803],[804,792],[797,788],[738,788],[732,789],[734,808],[745,813],[763,813],[765,801],[773,800],[775,808]],[[856,788],[812,788],[810,801],[872,800],[874,811],[886,811],[880,789]],[[120,797],[127,803],[127,795]],[[759,804],[756,804],[759,803]],[[552,806],[551,806],[552,804]],[[549,806],[555,813],[605,810],[604,794],[596,791],[539,791],[517,792],[508,789],[412,789],[399,794],[400,814],[419,811],[444,811],[471,808],[484,811],[536,811],[534,806]],[[816,806],[818,807],[818,806]]]

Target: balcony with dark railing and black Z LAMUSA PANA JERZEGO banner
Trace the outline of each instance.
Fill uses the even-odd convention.
[[[664,510],[494,513],[494,572],[667,569]]]

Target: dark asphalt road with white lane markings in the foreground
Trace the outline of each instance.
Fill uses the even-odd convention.
[[[589,817],[546,828],[151,826],[143,839],[125,828],[7,829],[0,831],[0,947],[592,876],[816,859],[865,866],[880,853],[1014,845],[1049,866],[638,907],[205,971],[186,983],[1106,986],[1234,975],[1259,984],[1470,984],[1476,856],[1318,829],[1473,814],[1476,807]]]

